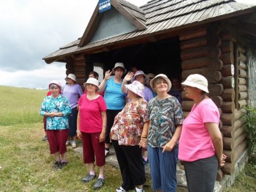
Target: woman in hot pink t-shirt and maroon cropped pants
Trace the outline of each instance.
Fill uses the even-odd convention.
[[[89,173],[82,178],[82,182],[92,181],[96,175],[94,161],[99,167],[100,174],[94,184],[94,189],[100,189],[105,182],[105,132],[106,132],[106,103],[102,95],[97,94],[98,80],[88,78],[84,87],[87,94],[79,99],[79,113],[77,115],[77,137],[82,140],[84,163],[89,166]]]

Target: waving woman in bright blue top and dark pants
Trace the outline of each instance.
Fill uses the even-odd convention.
[[[114,76],[111,76],[112,73],[114,73]],[[99,85],[100,93],[105,90],[104,99],[108,107],[106,111],[108,122],[105,137],[105,156],[109,155],[109,133],[113,126],[115,115],[125,106],[125,94],[121,91],[122,76],[125,73],[125,65],[123,65],[122,62],[117,62],[112,72],[110,72],[110,70],[106,71],[104,80],[101,82],[101,85]]]

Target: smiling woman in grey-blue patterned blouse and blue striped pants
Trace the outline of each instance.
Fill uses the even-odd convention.
[[[150,127],[147,135],[148,161],[154,191],[176,191],[178,140],[184,120],[179,101],[167,92],[171,81],[158,74],[150,81],[157,96],[148,102]],[[144,135],[144,130],[143,130]]]

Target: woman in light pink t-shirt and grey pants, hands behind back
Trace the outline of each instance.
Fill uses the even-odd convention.
[[[210,192],[214,189],[218,165],[225,164],[222,136],[218,123],[220,113],[206,93],[208,81],[191,74],[181,83],[186,97],[193,99],[191,112],[185,118],[179,141],[179,160],[183,161],[188,190]]]

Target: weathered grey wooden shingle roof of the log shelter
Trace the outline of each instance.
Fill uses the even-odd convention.
[[[154,35],[163,31],[175,31],[177,28],[185,28],[193,24],[202,24],[213,20],[220,20],[247,14],[255,11],[255,5],[246,5],[230,0],[153,0],[146,5],[137,7],[127,1],[117,0],[130,14],[146,24],[146,29],[142,31],[130,32],[109,39],[94,43],[88,43],[79,47],[80,39],[73,41],[58,51],[51,53],[43,59],[48,62],[58,60],[71,53],[85,52],[89,49],[104,47],[109,44],[117,44],[133,38]]]

